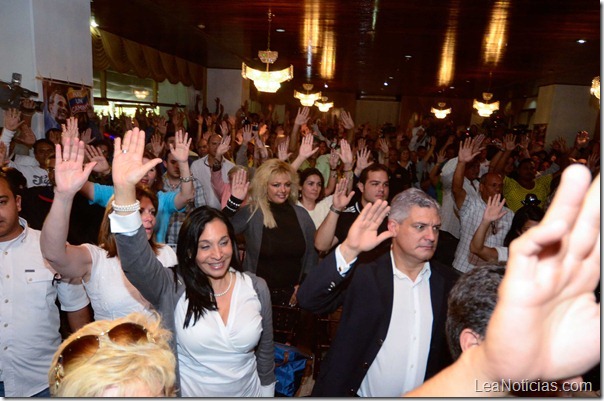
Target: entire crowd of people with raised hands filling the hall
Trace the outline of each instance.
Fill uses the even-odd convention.
[[[273,396],[277,305],[314,396],[599,391],[599,138],[272,111],[4,113],[0,395]]]

